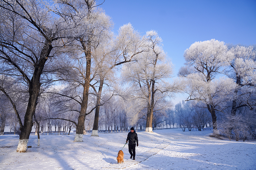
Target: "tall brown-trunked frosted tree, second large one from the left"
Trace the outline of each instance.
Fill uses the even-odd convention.
[[[58,0],[55,1],[57,10],[52,8],[63,22],[71,29],[62,39],[64,48],[61,54],[63,64],[67,69],[59,72],[59,80],[69,84],[70,90],[80,91],[79,95],[65,96],[80,105],[77,118],[75,142],[83,141],[84,122],[86,115],[92,113],[95,107],[88,107],[89,88],[92,66],[93,46],[99,44],[101,36],[104,36],[112,26],[110,18],[99,9],[95,0]],[[50,8],[49,8],[50,9]]]

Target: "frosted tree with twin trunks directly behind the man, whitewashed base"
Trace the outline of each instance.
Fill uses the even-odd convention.
[[[130,124],[134,125],[143,116],[142,110],[147,108],[146,131],[153,132],[153,113],[156,104],[160,102],[158,99],[179,92],[181,85],[178,82],[167,82],[171,77],[173,66],[166,58],[161,44],[162,39],[157,32],[148,31],[145,38],[149,50],[137,56],[136,63],[125,64],[122,77],[131,89],[129,91],[131,96],[126,103]]]

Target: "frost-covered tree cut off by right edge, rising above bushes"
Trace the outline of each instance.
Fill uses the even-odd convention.
[[[231,115],[236,115],[240,107],[255,109],[256,86],[256,52],[252,46],[236,46],[229,49],[233,57],[230,63],[229,76],[237,84],[235,96],[232,101]]]

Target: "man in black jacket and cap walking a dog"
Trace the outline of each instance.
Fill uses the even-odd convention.
[[[137,142],[137,146],[139,146],[138,144],[138,136],[137,133],[135,132],[134,128],[131,128],[131,131],[128,133],[127,135],[127,139],[126,139],[126,144],[129,140],[129,153],[131,154],[131,159],[133,157],[133,160],[135,160],[135,147],[136,147],[136,142]]]

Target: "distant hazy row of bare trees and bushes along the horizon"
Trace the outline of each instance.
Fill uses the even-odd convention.
[[[131,122],[129,122],[129,118],[127,116],[127,112],[124,109],[123,98],[119,96],[115,96],[111,98],[107,103],[105,103],[100,109],[100,119],[99,119],[99,127],[98,130],[104,130],[108,132],[121,132],[130,129]],[[45,107],[45,106],[44,106]],[[61,129],[67,134],[70,132],[71,128],[73,128],[73,123],[65,121],[65,119],[72,120],[70,116],[63,117],[63,120],[55,119],[53,117],[56,116],[56,113],[59,113],[59,110],[45,112],[44,107],[38,107],[38,110],[41,110],[40,115],[37,114],[40,123],[41,131],[47,131],[47,133],[52,132],[59,134]],[[54,107],[58,107],[55,105]],[[229,104],[231,108],[231,103]],[[227,108],[228,109],[228,108]],[[48,109],[47,109],[48,110]],[[175,105],[173,109],[165,108],[165,113],[154,113],[153,117],[153,127],[154,128],[182,128],[183,131],[185,129],[192,130],[195,127],[201,131],[204,127],[210,126],[212,127],[211,116],[208,113],[208,110],[204,108],[203,103],[199,107],[199,103],[195,104],[195,102],[187,101],[180,102]],[[219,119],[219,132],[227,135],[230,139],[232,136],[236,137],[238,141],[239,138],[243,140],[247,138],[255,138],[255,114],[250,109],[241,108],[238,109],[236,117],[226,116],[221,112],[217,112]],[[62,116],[65,116],[61,114]],[[73,115],[74,116],[74,115]],[[48,118],[50,119],[48,119]],[[91,130],[93,126],[93,117],[94,114],[88,115],[87,120],[85,121],[85,129],[84,133],[87,130]],[[10,117],[11,118],[11,117]],[[75,116],[74,116],[75,119]],[[15,120],[11,120],[15,121]],[[16,121],[17,122],[17,121]],[[16,123],[17,124],[17,123]],[[36,127],[35,123],[35,127]],[[145,129],[146,128],[146,119],[141,117],[134,124],[137,129]],[[54,129],[55,127],[55,129]],[[57,129],[57,130],[56,130]],[[68,131],[69,130],[69,131]]]

